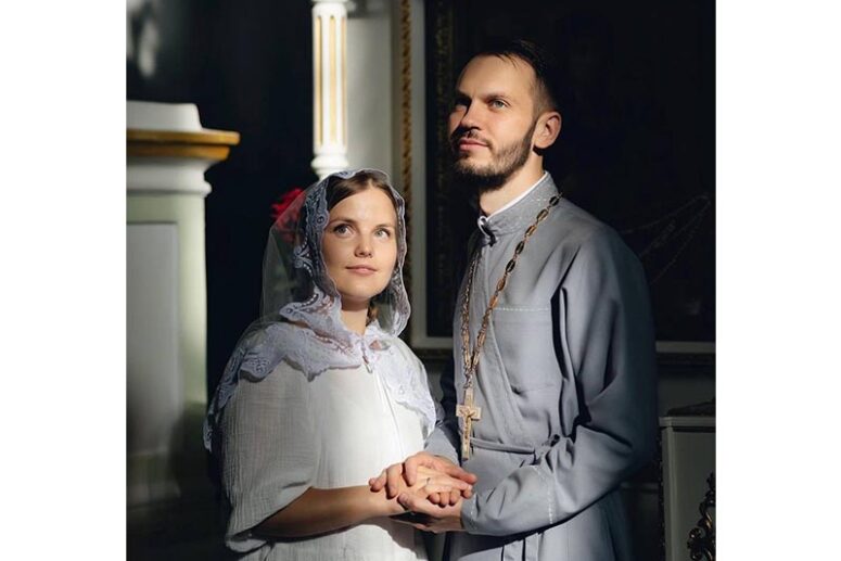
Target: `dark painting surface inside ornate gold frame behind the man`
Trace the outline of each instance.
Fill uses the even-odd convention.
[[[493,39],[557,61],[563,126],[546,168],[564,196],[614,227],[649,280],[659,341],[715,341],[715,3],[705,0],[431,0],[426,3],[430,334],[449,336],[472,226],[439,146],[451,84]],[[443,87],[442,87],[443,86]],[[435,247],[435,250],[433,250]],[[438,248],[449,250],[442,257]],[[436,268],[436,265],[439,267]]]

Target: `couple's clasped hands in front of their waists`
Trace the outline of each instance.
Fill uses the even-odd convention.
[[[385,489],[403,509],[393,519],[424,532],[459,532],[461,505],[473,495],[476,476],[451,461],[418,452],[403,463],[390,466],[369,480],[372,492]]]

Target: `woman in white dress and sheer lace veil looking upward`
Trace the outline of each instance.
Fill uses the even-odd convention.
[[[342,171],[271,228],[263,317],[240,340],[205,423],[243,559],[425,559],[368,480],[423,449],[435,422],[423,365],[397,335],[404,202],[377,170]],[[409,490],[468,490],[424,471]]]

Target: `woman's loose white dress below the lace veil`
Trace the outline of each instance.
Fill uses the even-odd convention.
[[[412,375],[425,371],[408,354]],[[250,528],[307,488],[368,485],[385,467],[423,449],[423,424],[390,395],[384,367],[330,369],[308,379],[283,361],[259,381],[240,380],[221,420],[222,484],[231,502],[226,543],[242,559],[285,561],[426,559],[411,526],[378,519],[327,535],[266,540]]]

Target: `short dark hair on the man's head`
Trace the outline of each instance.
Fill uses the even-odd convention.
[[[519,59],[532,67],[535,75],[535,112],[559,111],[558,64],[538,44],[525,39],[504,39],[488,42],[473,55]]]

